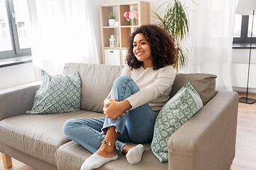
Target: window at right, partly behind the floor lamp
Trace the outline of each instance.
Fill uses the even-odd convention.
[[[254,17],[253,20],[254,21],[253,21],[253,32],[252,32],[252,15],[241,16],[241,15],[235,14],[233,44],[244,44],[243,46],[249,46],[251,33],[253,33],[252,43],[256,43],[256,16]]]

